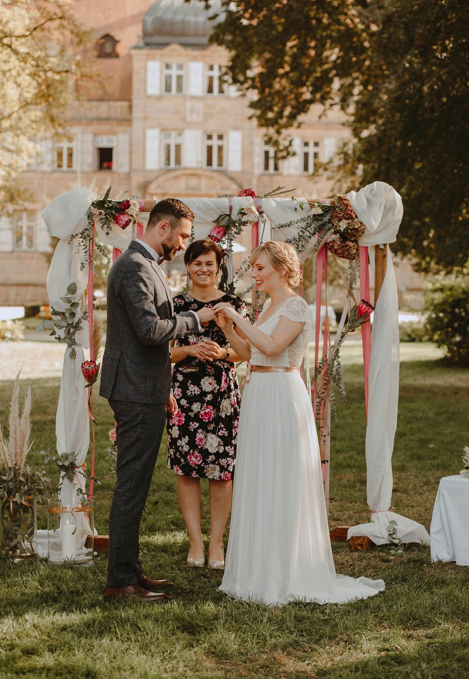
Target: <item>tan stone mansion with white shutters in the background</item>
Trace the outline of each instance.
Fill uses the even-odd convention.
[[[100,81],[81,92],[60,139],[41,142],[41,155],[19,182],[34,202],[14,219],[0,213],[0,306],[47,301],[50,237],[41,218],[49,200],[74,186],[102,195],[140,198],[263,194],[278,185],[305,198],[329,196],[316,175],[348,137],[340,111],[319,117],[312,107],[293,130],[295,155],[276,159],[248,100],[223,86],[226,52],[210,45],[211,23],[200,0],[80,0],[86,28],[96,34]]]

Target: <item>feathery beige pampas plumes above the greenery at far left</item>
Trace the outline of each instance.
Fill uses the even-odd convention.
[[[7,467],[15,464],[22,467],[26,462],[26,456],[33,445],[33,441],[29,441],[31,436],[31,387],[28,387],[26,391],[23,409],[20,412],[20,373],[16,375],[13,385],[8,426],[10,427],[10,437],[5,439],[0,424],[0,449],[3,460],[5,460]]]

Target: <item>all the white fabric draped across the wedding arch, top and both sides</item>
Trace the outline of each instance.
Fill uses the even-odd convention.
[[[360,240],[361,245],[369,246],[371,266],[374,263],[375,244],[389,244],[396,240],[402,219],[402,202],[392,187],[383,182],[375,182],[357,193],[348,194],[356,214],[367,227]],[[75,188],[60,194],[43,210],[43,218],[52,236],[60,238],[56,253],[52,258],[47,279],[51,306],[63,309],[60,300],[67,292],[71,282],[77,283],[75,299],[85,310],[84,291],[88,281],[88,268],[80,271],[82,254],[75,241],[68,242],[72,234],[86,227],[86,213],[93,200],[89,189]],[[212,228],[212,221],[221,213],[229,212],[228,198],[182,198],[195,214],[195,238],[206,238]],[[299,219],[310,212],[309,205],[302,198],[259,199],[261,208],[269,221],[265,232],[266,240],[276,224]],[[253,203],[249,196],[231,199],[233,218],[238,210]],[[147,216],[141,215],[139,221],[146,223]],[[269,223],[270,222],[270,223]],[[295,236],[298,227],[282,230],[283,237]],[[96,225],[96,239],[120,250],[125,250],[134,236],[134,230],[122,231],[117,226],[109,233]],[[261,228],[259,230],[261,236]],[[372,272],[373,275],[373,272]],[[75,361],[67,350],[64,357],[64,370],[60,384],[60,397],[57,411],[56,435],[59,454],[77,452],[78,464],[82,464],[88,452],[90,430],[86,399],[88,390],[81,374],[81,363],[85,360],[84,350],[88,348],[88,324],[83,323],[83,331],[77,336],[79,346]],[[367,426],[366,455],[368,473],[368,502],[373,513],[370,524],[354,526],[349,535],[369,535],[377,544],[388,541],[387,526],[390,519],[397,521],[397,534],[403,541],[428,543],[428,533],[423,526],[410,519],[389,512],[392,492],[391,457],[396,430],[398,403],[398,306],[396,280],[392,258],[388,252],[388,267],[383,288],[379,295],[373,321],[373,346],[371,350],[369,418]],[[71,492],[70,484],[64,482],[62,498],[67,499]]]

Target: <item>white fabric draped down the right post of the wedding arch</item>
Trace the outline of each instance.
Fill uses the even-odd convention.
[[[348,198],[367,227],[360,245],[368,246],[371,280],[374,278],[375,245],[396,240],[402,219],[402,200],[392,186],[375,181]],[[421,524],[388,511],[392,496],[392,450],[397,426],[399,396],[399,324],[396,276],[388,247],[386,276],[373,315],[369,369],[369,406],[365,453],[367,498],[371,522],[352,526],[348,538],[367,535],[376,545],[388,543],[388,526],[396,521],[396,534],[403,543],[428,545],[430,536]]]

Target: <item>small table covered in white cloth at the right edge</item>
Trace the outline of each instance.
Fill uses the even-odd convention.
[[[432,561],[455,561],[469,566],[469,479],[440,480],[430,525]]]

